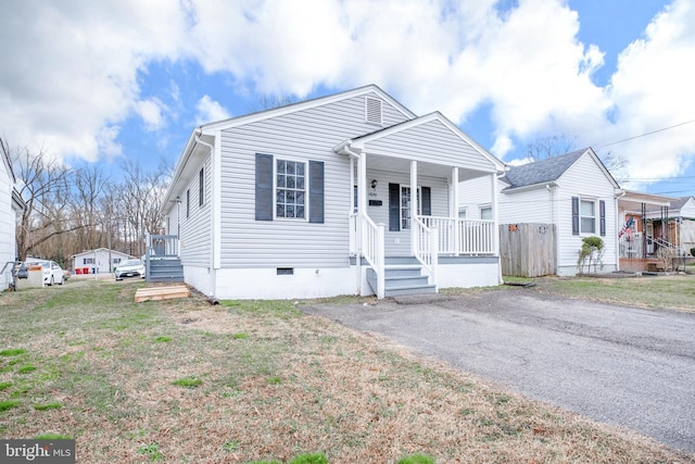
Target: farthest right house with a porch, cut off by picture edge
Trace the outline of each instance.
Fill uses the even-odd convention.
[[[667,247],[690,254],[695,248],[695,198],[671,199],[669,204],[647,211],[645,220],[649,253]]]

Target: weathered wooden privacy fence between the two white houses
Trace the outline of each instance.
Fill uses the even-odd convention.
[[[554,224],[500,224],[502,275],[540,277],[557,273]]]

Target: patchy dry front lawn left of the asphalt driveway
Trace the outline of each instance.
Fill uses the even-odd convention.
[[[78,462],[695,462],[529,401],[292,302],[136,304],[142,284],[0,297],[0,436],[77,440]],[[18,374],[21,365],[37,367]],[[181,378],[202,380],[182,388]],[[35,404],[61,407],[36,410]]]

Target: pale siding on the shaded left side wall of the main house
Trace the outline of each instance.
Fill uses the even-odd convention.
[[[199,205],[199,177],[201,167],[205,170],[204,203]],[[212,266],[212,158],[207,155],[203,163],[195,170],[190,183],[184,189],[180,204],[180,258],[185,266],[208,267]],[[190,191],[189,216],[186,217],[186,191]],[[176,206],[172,209],[173,216],[169,226],[176,234]]]

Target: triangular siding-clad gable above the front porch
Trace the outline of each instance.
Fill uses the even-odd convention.
[[[368,153],[494,172],[493,163],[439,121],[395,133],[366,145]]]

